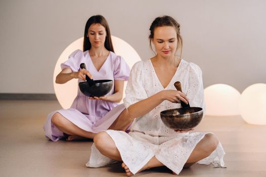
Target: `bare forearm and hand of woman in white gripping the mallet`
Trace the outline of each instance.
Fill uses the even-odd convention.
[[[181,100],[185,104],[188,103],[187,97],[182,92],[174,90],[164,90],[147,99],[130,105],[128,107],[129,115],[131,118],[141,117],[153,110],[156,106],[160,105],[164,100],[168,100],[172,103],[180,103]]]

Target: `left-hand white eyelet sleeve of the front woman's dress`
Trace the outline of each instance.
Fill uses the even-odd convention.
[[[143,61],[138,61],[132,67],[130,72],[129,81],[126,87],[126,97],[124,98],[125,107],[137,103],[141,100],[148,98],[143,85]]]

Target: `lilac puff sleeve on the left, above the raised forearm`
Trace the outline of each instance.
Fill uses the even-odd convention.
[[[61,64],[61,69],[70,68],[72,71],[77,72],[80,69],[80,63],[84,63],[85,57],[81,50],[74,51],[69,55],[68,60]]]

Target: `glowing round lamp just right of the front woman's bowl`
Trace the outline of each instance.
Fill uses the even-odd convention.
[[[204,89],[206,115],[239,115],[240,93],[232,86],[214,84]]]

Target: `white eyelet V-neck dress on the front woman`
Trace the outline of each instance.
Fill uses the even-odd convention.
[[[174,82],[182,83],[182,90],[189,99],[189,104],[194,107],[202,107],[205,110],[204,89],[202,71],[194,63],[181,60],[170,83],[164,88],[156,75],[150,60],[137,62],[130,73],[126,88],[125,107],[151,97],[163,90],[176,90]],[[180,104],[167,100],[155,107],[149,113],[136,118],[131,125],[129,134],[123,131],[106,130],[107,134],[115,142],[122,161],[135,174],[154,156],[169,169],[179,174],[188,157],[196,145],[211,132],[175,132],[168,128],[160,118],[160,112],[166,109],[180,108]],[[212,133],[211,133],[212,134]],[[223,167],[225,152],[221,143],[208,157],[198,163],[210,164],[215,167]],[[114,163],[114,160],[102,155],[95,145],[87,167],[100,167]]]

